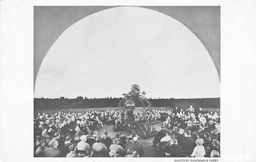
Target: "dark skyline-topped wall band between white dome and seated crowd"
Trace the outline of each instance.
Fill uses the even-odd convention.
[[[84,108],[104,108],[118,107],[118,103],[122,98],[83,98],[76,99],[45,99],[35,98],[35,110],[50,110],[50,109],[84,109]],[[188,109],[190,105],[194,108],[220,108],[220,98],[197,98],[197,99],[148,99],[152,103],[152,107],[178,107]],[[136,102],[136,107],[141,107],[141,101]],[[148,105],[146,105],[148,106]]]

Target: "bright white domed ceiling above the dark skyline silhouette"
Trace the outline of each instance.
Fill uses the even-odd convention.
[[[46,54],[34,97],[122,97],[132,84],[148,98],[220,97],[217,70],[196,35],[139,7],[107,9],[71,25]]]

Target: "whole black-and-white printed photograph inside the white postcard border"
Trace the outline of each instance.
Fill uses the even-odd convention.
[[[220,6],[35,6],[34,157],[220,157]]]

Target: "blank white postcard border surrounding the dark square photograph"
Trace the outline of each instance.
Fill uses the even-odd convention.
[[[221,6],[221,158],[255,161],[256,156],[256,1],[11,1],[0,3],[0,159],[70,161],[33,158],[33,6]],[[241,111],[241,109],[243,111]],[[250,113],[245,113],[250,112]],[[117,160],[120,158],[117,158]],[[135,158],[132,161],[156,161]],[[178,158],[161,158],[174,161]],[[181,158],[188,159],[188,158]],[[194,158],[195,159],[195,158]],[[84,161],[83,158],[72,159]],[[101,161],[102,158],[87,158]],[[116,159],[115,159],[116,160]],[[121,158],[123,161],[129,159]],[[104,161],[112,161],[105,158]],[[130,161],[130,160],[129,160]]]

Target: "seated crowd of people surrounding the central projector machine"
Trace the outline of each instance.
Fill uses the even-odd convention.
[[[34,117],[35,157],[143,157],[140,137],[108,131],[98,134],[105,123],[120,122],[122,111],[59,112]],[[146,114],[146,115],[145,115]],[[158,157],[220,157],[220,113],[194,112],[179,108],[133,111],[134,121],[161,120],[161,130],[152,146]],[[146,116],[143,118],[143,116]]]

